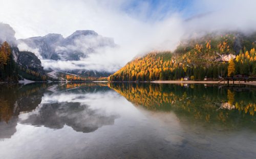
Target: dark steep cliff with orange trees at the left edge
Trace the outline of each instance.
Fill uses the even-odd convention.
[[[32,52],[19,51],[11,26],[0,23],[0,29],[0,81],[17,82],[22,78],[45,81],[41,61]]]

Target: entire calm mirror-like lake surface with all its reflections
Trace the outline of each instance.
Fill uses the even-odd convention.
[[[255,158],[256,89],[0,85],[0,158]]]

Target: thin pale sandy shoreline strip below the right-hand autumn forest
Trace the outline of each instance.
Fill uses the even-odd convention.
[[[156,83],[156,84],[223,84],[224,81],[152,81],[151,83]],[[227,84],[227,82],[225,82]],[[229,81],[229,85],[232,85],[233,82]],[[234,81],[234,84],[241,84],[241,85],[252,85],[256,86],[256,81],[253,82],[243,82],[243,81]]]

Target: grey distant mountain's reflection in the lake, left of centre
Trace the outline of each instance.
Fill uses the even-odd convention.
[[[88,105],[80,105],[79,102],[61,102],[40,105],[37,111],[28,114],[27,119],[20,123],[54,129],[68,125],[76,131],[90,133],[103,125],[114,124],[115,118],[114,115],[98,114],[96,110],[90,109]]]

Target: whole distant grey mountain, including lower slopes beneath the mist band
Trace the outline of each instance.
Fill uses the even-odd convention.
[[[63,73],[75,74],[82,77],[108,77],[113,72],[87,69],[90,64],[80,62],[87,59],[91,54],[97,54],[106,48],[116,47],[114,40],[108,37],[102,37],[95,31],[80,30],[75,31],[70,36],[64,38],[60,34],[48,34],[43,37],[31,37],[19,39],[18,46],[23,46],[25,50],[34,51],[36,56],[45,64],[45,70],[53,78],[63,79]],[[68,62],[75,66],[74,68],[61,68],[61,66],[52,65],[55,62]]]

